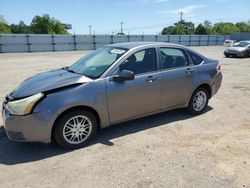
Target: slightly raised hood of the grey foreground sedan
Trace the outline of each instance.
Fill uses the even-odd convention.
[[[22,84],[11,93],[11,96],[13,98],[23,98],[40,92],[89,81],[91,81],[91,79],[83,75],[59,69],[37,74],[24,80]]]

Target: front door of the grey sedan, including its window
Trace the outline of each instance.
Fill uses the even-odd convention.
[[[135,79],[114,82],[106,79],[107,100],[111,123],[131,119],[160,110],[161,74],[157,72],[156,49],[132,54],[117,67],[134,72]]]

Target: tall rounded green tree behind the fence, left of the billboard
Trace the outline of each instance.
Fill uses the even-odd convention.
[[[68,34],[64,25],[48,14],[35,16],[31,22],[31,30],[36,34]]]

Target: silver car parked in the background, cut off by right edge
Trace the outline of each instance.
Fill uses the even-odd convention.
[[[226,57],[250,57],[250,41],[240,41],[224,51]]]

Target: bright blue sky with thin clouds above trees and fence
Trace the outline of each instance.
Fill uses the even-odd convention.
[[[250,0],[0,0],[0,15],[9,23],[30,24],[35,15],[49,14],[72,24],[70,33],[112,34],[123,22],[126,34],[158,34],[183,19],[196,25],[209,20],[250,20]]]

